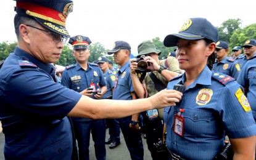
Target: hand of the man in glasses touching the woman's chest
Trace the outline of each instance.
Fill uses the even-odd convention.
[[[151,101],[152,109],[160,109],[165,106],[176,106],[176,103],[180,102],[182,95],[183,94],[177,90],[164,89],[147,99]]]

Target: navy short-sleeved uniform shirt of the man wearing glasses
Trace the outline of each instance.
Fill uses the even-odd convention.
[[[67,114],[81,95],[54,82],[51,65],[16,47],[0,70],[6,159],[71,159]]]

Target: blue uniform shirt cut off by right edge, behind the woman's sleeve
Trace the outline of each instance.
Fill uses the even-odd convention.
[[[244,65],[237,78],[237,82],[241,84],[242,87],[248,89],[247,99],[256,121],[256,55],[249,58],[248,62]]]

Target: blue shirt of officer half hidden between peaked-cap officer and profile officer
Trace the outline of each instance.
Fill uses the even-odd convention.
[[[112,71],[107,70],[105,73],[103,73],[103,76],[107,82],[107,92],[105,92],[105,94],[102,96],[102,99],[105,99],[113,94],[112,89],[115,86],[115,75],[112,73]]]

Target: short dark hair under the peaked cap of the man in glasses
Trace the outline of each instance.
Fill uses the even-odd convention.
[[[23,15],[16,14],[14,17],[14,29],[15,29],[15,34],[17,38],[19,38],[19,35],[20,35],[19,27],[21,24],[38,25],[38,22],[36,22],[36,20],[33,20],[31,18],[25,17]]]

